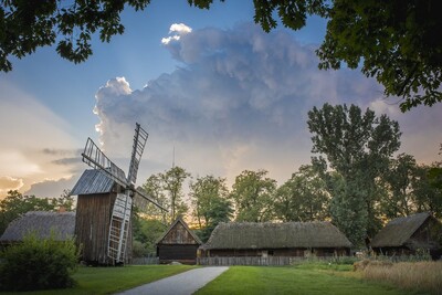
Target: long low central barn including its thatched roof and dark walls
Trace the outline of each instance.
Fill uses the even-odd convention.
[[[329,222],[220,223],[202,256],[349,255],[351,243]]]

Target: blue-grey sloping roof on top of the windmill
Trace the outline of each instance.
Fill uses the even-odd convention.
[[[71,196],[107,193],[112,191],[114,183],[115,181],[104,172],[97,169],[88,169],[80,177],[71,190]]]

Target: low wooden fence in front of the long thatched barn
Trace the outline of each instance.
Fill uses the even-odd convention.
[[[305,260],[304,257],[293,256],[231,256],[231,257],[199,257],[200,265],[291,265],[295,262]]]

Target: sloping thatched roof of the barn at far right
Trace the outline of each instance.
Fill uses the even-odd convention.
[[[404,218],[391,220],[372,239],[371,247],[402,246],[419,230],[427,219],[433,218],[428,212],[422,212]],[[434,219],[434,218],[433,218]]]

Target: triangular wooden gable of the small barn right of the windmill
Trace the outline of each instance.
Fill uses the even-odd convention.
[[[166,231],[157,244],[202,244],[200,239],[189,229],[187,223],[178,218]]]

